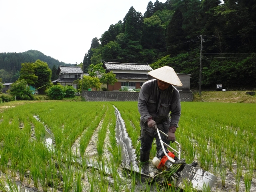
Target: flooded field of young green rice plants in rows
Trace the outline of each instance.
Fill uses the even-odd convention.
[[[161,191],[158,184],[148,186],[122,172],[113,105],[124,119],[138,156],[137,102],[32,102],[4,110],[0,122],[2,190],[8,183],[15,189],[11,182],[15,179],[41,191],[139,191],[139,187]],[[215,174],[219,191],[226,191],[227,172],[235,183],[229,186],[231,191],[250,191],[256,176],[255,117],[256,104],[182,102],[176,131],[181,158],[186,163],[196,160]],[[52,146],[45,144],[46,130],[54,139]],[[88,154],[93,149],[96,153]],[[152,150],[151,158],[154,154]],[[89,159],[97,169],[86,166]],[[103,173],[106,167],[109,174]]]

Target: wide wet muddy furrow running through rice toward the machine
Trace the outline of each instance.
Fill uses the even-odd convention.
[[[137,165],[135,149],[132,147],[132,140],[127,134],[126,126],[120,112],[115,106],[114,108],[116,114],[116,140],[122,148],[124,167],[139,172],[140,169]]]

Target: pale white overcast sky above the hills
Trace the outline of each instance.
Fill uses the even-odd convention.
[[[144,14],[149,1],[0,0],[0,52],[38,50],[79,64],[94,37],[123,21],[131,6]]]

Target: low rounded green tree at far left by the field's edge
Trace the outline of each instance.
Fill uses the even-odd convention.
[[[34,100],[30,88],[24,79],[18,80],[11,84],[10,90],[8,92],[12,96],[16,96],[16,100]]]

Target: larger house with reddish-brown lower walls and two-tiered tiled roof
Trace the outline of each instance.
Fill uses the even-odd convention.
[[[152,71],[149,64],[142,63],[104,62],[103,68],[106,69],[106,73],[112,71],[116,74],[118,80],[114,85],[108,85],[110,91],[118,91],[124,86],[129,89],[141,88],[142,84],[148,80],[148,72]]]

